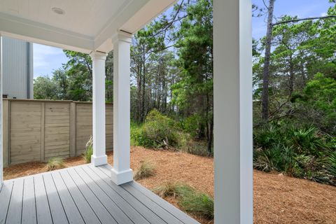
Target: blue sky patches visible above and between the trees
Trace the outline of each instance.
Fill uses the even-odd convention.
[[[265,0],[267,2],[267,0]],[[252,2],[263,7],[262,0]],[[281,15],[297,15],[299,18],[325,15],[331,6],[328,0],[276,0],[274,17]],[[252,20],[253,38],[259,39],[266,34],[265,15]],[[67,62],[62,49],[34,43],[34,78],[38,76],[52,76],[52,71],[62,67]]]

